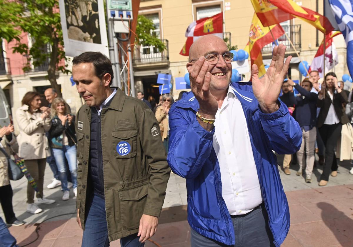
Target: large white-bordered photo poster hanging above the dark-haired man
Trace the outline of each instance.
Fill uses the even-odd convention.
[[[59,0],[66,56],[101,52],[109,58],[103,0]]]

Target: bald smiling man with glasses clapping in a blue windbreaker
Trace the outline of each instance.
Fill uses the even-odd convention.
[[[169,110],[168,162],[186,178],[191,246],[279,246],[289,208],[277,153],[295,153],[301,130],[277,99],[291,56],[273,50],[267,73],[230,83],[233,54],[205,35],[190,48],[191,92]]]

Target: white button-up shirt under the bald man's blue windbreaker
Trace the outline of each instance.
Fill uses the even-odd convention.
[[[214,125],[222,197],[231,215],[244,215],[260,205],[262,197],[245,115],[231,86]]]

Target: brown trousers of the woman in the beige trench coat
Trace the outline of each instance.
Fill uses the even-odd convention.
[[[46,166],[46,159],[27,159],[24,164],[33,177],[34,181],[37,183],[38,191],[36,197],[43,197],[43,183],[44,183],[44,171]],[[34,203],[34,189],[28,183],[27,185],[27,203]]]

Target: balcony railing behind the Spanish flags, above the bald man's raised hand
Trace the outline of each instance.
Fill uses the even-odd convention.
[[[283,30],[288,35],[289,39],[292,41],[295,49],[301,48],[301,25],[282,25]],[[282,35],[278,38],[279,44],[284,44],[287,46],[287,50],[294,50],[291,42],[288,40],[286,35]],[[267,44],[262,48],[263,53],[270,53],[272,52],[272,43]]]

